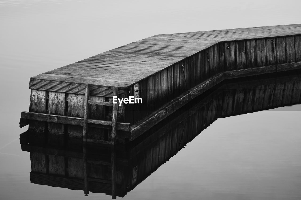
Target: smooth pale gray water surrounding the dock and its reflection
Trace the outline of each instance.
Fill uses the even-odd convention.
[[[30,183],[29,77],[156,34],[300,23],[298,1],[0,1],[1,199],[110,199]],[[301,108],[216,120],[124,199],[301,199]]]

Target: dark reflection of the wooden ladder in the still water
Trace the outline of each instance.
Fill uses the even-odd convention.
[[[83,145],[83,162],[84,162],[84,191],[85,191],[85,196],[88,196],[89,194],[89,181],[97,181],[97,182],[102,182],[102,183],[111,183],[111,195],[112,199],[116,198],[116,153],[114,146],[110,146],[109,149],[111,151],[111,162],[108,160],[103,161],[103,160],[94,160],[94,159],[89,159],[87,157],[87,148],[86,148],[86,142],[84,142]],[[91,178],[88,177],[88,169],[87,169],[87,164],[88,163],[94,163],[98,165],[108,165],[111,167],[111,180],[106,180],[106,179],[99,179],[99,178]]]

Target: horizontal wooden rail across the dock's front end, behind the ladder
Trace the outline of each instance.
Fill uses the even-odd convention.
[[[21,113],[21,119],[62,123],[62,124],[71,124],[71,125],[78,125],[78,126],[84,125],[84,119],[80,118],[80,117],[51,115],[51,114],[26,112],[26,111]],[[23,121],[23,120],[21,120],[21,121]],[[110,121],[104,121],[104,120],[87,120],[87,121],[88,121],[88,123],[91,123],[91,124],[112,126],[112,122],[110,122]],[[130,131],[130,124],[117,122],[117,130]]]

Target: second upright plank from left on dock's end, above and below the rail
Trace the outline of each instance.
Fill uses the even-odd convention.
[[[65,93],[49,91],[48,113],[65,115]],[[48,143],[64,146],[64,124],[48,123]]]

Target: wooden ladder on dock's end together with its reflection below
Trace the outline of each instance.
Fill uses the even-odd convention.
[[[86,141],[90,141],[87,139],[87,120],[88,120],[88,104],[97,104],[97,105],[107,105],[107,106],[113,106],[112,111],[112,139],[111,141],[102,141],[98,140],[98,143],[102,144],[115,144],[116,140],[116,121],[117,121],[117,111],[118,111],[118,105],[109,103],[109,102],[96,102],[96,101],[90,101],[89,100],[89,94],[90,94],[90,86],[89,84],[85,85],[85,106],[84,106],[84,131],[83,131],[83,159],[84,159],[84,184],[85,184],[85,196],[88,196],[89,193],[89,185],[88,185],[88,171],[87,171],[87,148],[86,148]],[[113,88],[113,96],[117,96],[118,87]],[[111,163],[104,163],[101,162],[100,164],[106,164],[111,165],[111,172],[112,172],[112,199],[116,198],[116,154],[114,152],[114,147],[112,147],[111,150]],[[107,181],[107,180],[104,180]]]

